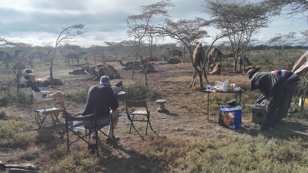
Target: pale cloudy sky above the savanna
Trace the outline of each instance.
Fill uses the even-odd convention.
[[[259,0],[260,1],[260,0]],[[128,29],[126,18],[139,14],[140,5],[149,5],[153,0],[0,0],[0,37],[12,42],[30,43],[42,46],[42,42],[55,42],[61,29],[68,25],[82,23],[86,33],[79,36],[73,44],[89,47],[104,45],[103,42],[120,42],[126,37]],[[172,19],[193,19],[209,17],[200,13],[201,0],[171,0],[176,7],[172,8]],[[255,1],[253,1],[255,2]],[[211,37],[220,33],[213,28],[206,28]],[[288,34],[307,30],[304,19],[278,18],[264,28],[255,37],[260,44],[274,34]],[[211,43],[212,38],[206,38]],[[163,43],[175,42],[166,38]],[[160,42],[162,43],[162,42]],[[54,44],[53,44],[54,45]]]

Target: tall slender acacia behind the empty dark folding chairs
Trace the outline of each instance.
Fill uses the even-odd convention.
[[[135,49],[133,49],[135,51],[134,66],[137,57],[139,57],[141,60],[141,54],[139,48],[142,40],[147,40],[149,42],[150,48],[148,56],[152,54],[153,38],[161,36],[154,30],[155,26],[154,23],[157,22],[157,18],[159,16],[170,17],[168,13],[171,11],[169,10],[169,8],[171,7],[174,7],[174,4],[170,0],[166,1],[163,0],[147,6],[141,5],[139,8],[140,14],[128,16],[127,18],[128,30],[126,31],[127,38],[134,38],[134,44],[136,47]],[[145,75],[145,84],[146,86],[148,86],[148,80],[147,80],[148,68],[144,69],[144,66],[142,68]],[[132,78],[133,77],[134,77],[134,68],[132,72]]]

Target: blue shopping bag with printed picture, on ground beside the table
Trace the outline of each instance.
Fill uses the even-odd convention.
[[[218,124],[229,127],[231,129],[241,128],[242,124],[242,108],[237,107],[221,107],[218,115]]]

